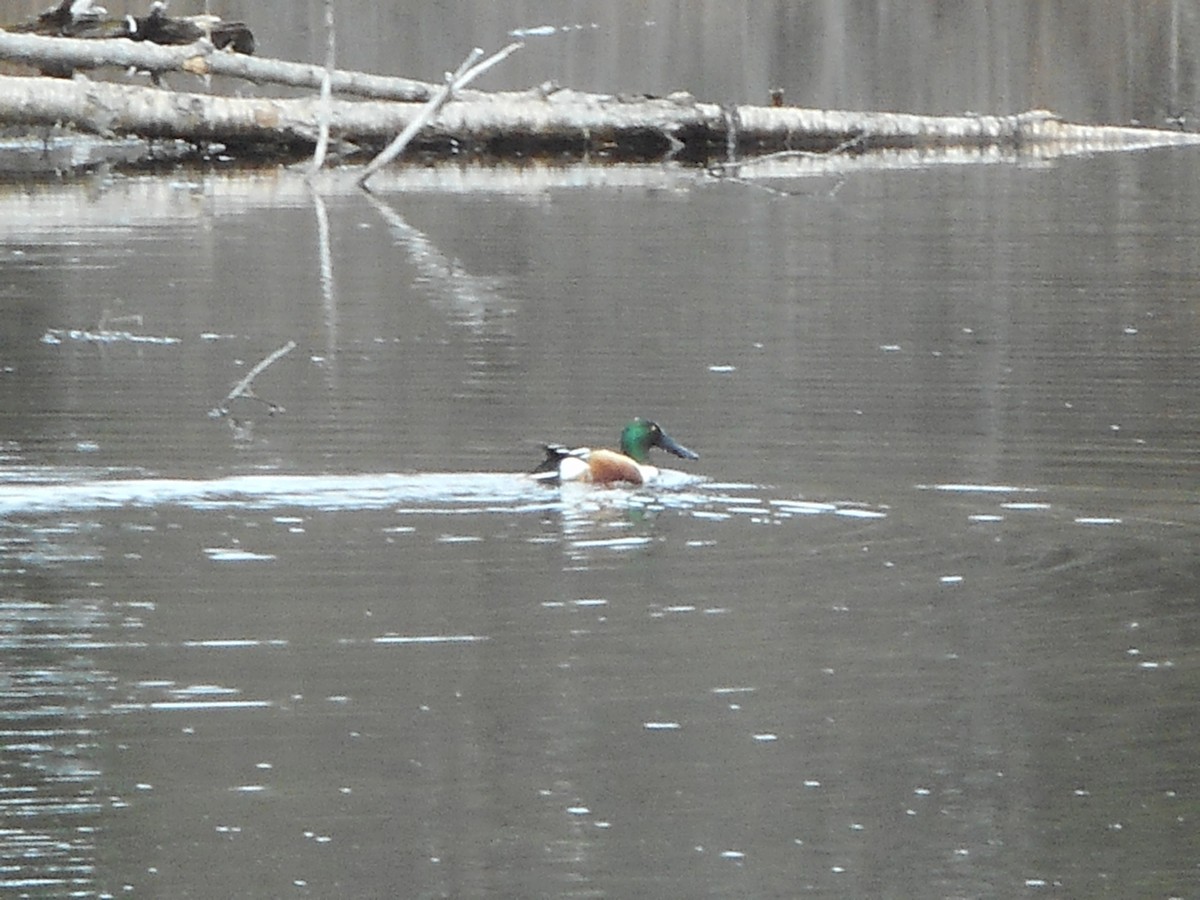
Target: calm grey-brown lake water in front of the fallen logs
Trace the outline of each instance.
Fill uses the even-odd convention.
[[[0,188],[0,888],[1196,896],[1198,168]]]

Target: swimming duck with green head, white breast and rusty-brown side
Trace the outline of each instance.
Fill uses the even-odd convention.
[[[648,419],[634,419],[620,432],[620,452],[593,450],[587,446],[569,449],[562,444],[546,444],[546,458],[530,475],[539,481],[584,481],[594,485],[644,485],[659,470],[650,466],[650,448],[658,446],[680,460],[698,460],[700,454],[662,431]]]

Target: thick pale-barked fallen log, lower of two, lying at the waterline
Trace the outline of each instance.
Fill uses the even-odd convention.
[[[720,107],[690,95],[632,98],[560,90],[482,95],[446,106],[421,145],[455,154],[572,154],[620,160],[678,157],[694,162],[799,150],[1001,146],[1034,151],[1128,150],[1200,143],[1200,134],[1152,128],[1072,125],[1044,110],[1018,115],[923,116],[896,113]],[[378,148],[420,112],[415,103],[335,101],[330,130]],[[311,150],[317,98],[239,98],[106,82],[0,77],[0,121],[71,122],[97,134],[140,134],[194,143],[290,144]],[[733,161],[733,160],[731,160]]]

